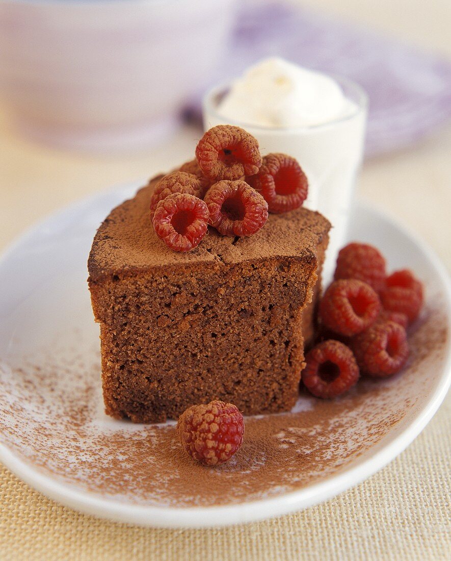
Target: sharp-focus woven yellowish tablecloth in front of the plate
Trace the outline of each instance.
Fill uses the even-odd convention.
[[[0,466],[0,559],[445,560],[451,551],[451,395],[382,471],[305,511],[241,526],[166,530],[103,521]]]

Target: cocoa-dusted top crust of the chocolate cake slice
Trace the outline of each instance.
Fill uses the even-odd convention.
[[[322,214],[300,208],[285,214],[270,214],[264,227],[250,237],[225,237],[209,228],[198,247],[188,253],[177,253],[157,238],[150,218],[150,198],[161,177],[154,178],[132,199],[111,210],[101,224],[88,260],[90,280],[150,268],[314,255],[331,228]]]

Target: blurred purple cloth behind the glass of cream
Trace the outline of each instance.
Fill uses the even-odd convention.
[[[276,55],[348,77],[369,95],[371,156],[411,145],[451,116],[451,62],[443,58],[287,4],[242,6],[237,21],[226,57],[207,86]],[[199,99],[189,112],[200,115]]]

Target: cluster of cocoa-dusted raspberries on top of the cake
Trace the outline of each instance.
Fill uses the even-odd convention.
[[[190,251],[209,224],[222,236],[252,236],[268,212],[294,210],[307,193],[307,178],[294,158],[262,158],[247,131],[218,125],[198,142],[196,159],[157,183],[150,211],[157,236],[171,250]]]

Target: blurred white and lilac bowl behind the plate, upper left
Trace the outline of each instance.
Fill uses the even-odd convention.
[[[235,0],[0,0],[0,103],[28,136],[110,149],[176,123]]]

